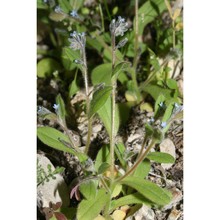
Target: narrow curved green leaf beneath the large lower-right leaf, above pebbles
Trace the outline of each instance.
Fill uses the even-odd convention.
[[[116,208],[124,205],[132,205],[132,204],[145,204],[146,206],[151,207],[153,203],[142,196],[140,193],[134,193],[128,196],[121,197],[117,200],[113,200],[111,202],[110,211],[115,210]]]

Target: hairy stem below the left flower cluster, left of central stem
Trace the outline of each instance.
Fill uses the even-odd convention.
[[[86,89],[86,114],[88,118],[88,134],[87,134],[87,141],[86,141],[86,148],[85,153],[88,154],[90,139],[92,135],[92,117],[89,118],[89,111],[90,111],[90,99],[89,99],[89,86],[88,86],[88,68],[87,68],[87,60],[86,60],[86,50],[85,47],[82,47],[82,58],[83,58],[83,76],[84,76],[84,83]]]

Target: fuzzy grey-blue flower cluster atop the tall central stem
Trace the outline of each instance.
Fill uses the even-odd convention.
[[[118,16],[117,21],[115,19],[111,21],[111,24],[109,25],[109,29],[112,35],[114,34],[116,37],[119,35],[123,36],[124,33],[128,30],[128,23],[125,22],[124,18]]]

